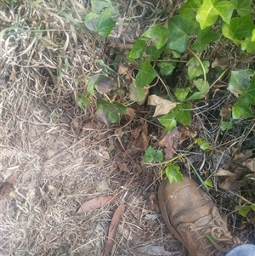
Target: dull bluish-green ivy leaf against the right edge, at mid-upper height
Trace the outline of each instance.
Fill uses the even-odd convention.
[[[229,92],[234,94],[236,98],[245,96],[251,82],[251,78],[255,75],[255,71],[246,69],[242,71],[231,71],[229,80]]]

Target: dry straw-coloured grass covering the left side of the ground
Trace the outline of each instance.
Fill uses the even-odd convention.
[[[82,23],[88,1],[23,0],[14,9],[10,3],[0,11],[0,180],[13,174],[16,180],[0,213],[1,255],[103,255],[123,196],[126,209],[111,255],[142,256],[139,247],[146,244],[184,255],[160,215],[144,218],[156,214],[142,195],[147,170],[137,170],[137,159],[128,163],[134,171],[116,169],[110,177],[114,128],[94,119],[93,106],[84,113],[75,102],[88,76],[100,70],[95,56],[105,60],[106,42],[94,43]],[[127,18],[127,5],[120,3]],[[151,15],[136,4],[132,15],[144,19],[146,11]],[[141,31],[148,24],[144,20]],[[97,189],[98,183],[108,190]],[[116,200],[77,213],[83,202],[105,195]]]

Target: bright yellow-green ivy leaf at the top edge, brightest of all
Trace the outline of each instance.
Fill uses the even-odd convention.
[[[201,29],[212,26],[218,15],[221,16],[225,23],[229,24],[234,7],[234,4],[229,1],[204,0],[197,10],[196,20],[199,22]]]

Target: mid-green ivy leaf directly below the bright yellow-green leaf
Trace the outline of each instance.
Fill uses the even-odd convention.
[[[202,52],[207,44],[215,42],[219,37],[216,32],[211,31],[210,27],[206,27],[203,30],[200,29],[197,31],[197,41],[194,43],[193,48],[198,52]]]

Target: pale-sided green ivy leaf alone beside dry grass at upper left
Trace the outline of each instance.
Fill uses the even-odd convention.
[[[101,14],[88,13],[85,17],[85,26],[91,31],[98,32],[101,37],[107,37],[116,23],[111,16],[110,8],[105,9]]]

